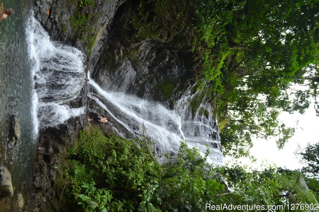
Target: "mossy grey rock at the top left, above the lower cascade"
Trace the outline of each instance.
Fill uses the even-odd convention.
[[[112,22],[117,8],[124,1],[95,0],[94,6],[85,4],[79,7],[79,1],[36,0],[34,15],[52,39],[74,46],[86,55],[90,54],[88,65],[91,69],[108,35],[106,27]],[[79,14],[85,14],[89,18],[84,23],[79,23],[76,19]],[[90,42],[89,37],[92,38]]]

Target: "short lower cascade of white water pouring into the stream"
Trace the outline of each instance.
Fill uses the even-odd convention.
[[[33,16],[26,29],[28,53],[33,61],[32,113],[34,133],[57,126],[70,117],[84,113],[84,108],[70,108],[84,83],[83,54],[78,49],[51,41]]]

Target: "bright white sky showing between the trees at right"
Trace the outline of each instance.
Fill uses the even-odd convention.
[[[274,138],[268,140],[254,139],[254,147],[250,151],[250,155],[254,156],[257,161],[252,163],[247,158],[238,159],[243,164],[261,169],[261,164],[268,161],[268,164],[275,164],[277,167],[287,167],[288,169],[301,168],[299,159],[294,154],[306,147],[307,143],[315,144],[319,142],[319,117],[315,116],[313,104],[310,105],[304,115],[298,112],[294,114],[282,113],[279,119],[286,124],[287,127],[295,127],[296,131],[292,138],[282,150],[278,150]],[[298,123],[297,123],[298,121]],[[301,148],[299,148],[299,145]],[[231,162],[230,157],[225,158],[225,163]],[[267,162],[266,162],[267,163]]]

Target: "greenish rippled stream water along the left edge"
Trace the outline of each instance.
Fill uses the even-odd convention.
[[[0,22],[0,166],[11,173],[14,194],[0,198],[1,211],[19,211],[18,194],[27,207],[32,197],[32,172],[35,141],[32,112],[33,84],[26,42],[27,20],[32,1],[2,1],[15,14]],[[19,118],[20,138],[9,141],[10,116]]]

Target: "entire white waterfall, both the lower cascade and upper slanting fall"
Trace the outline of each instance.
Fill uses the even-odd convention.
[[[34,18],[29,19],[26,34],[32,61],[32,114],[36,135],[39,129],[58,126],[70,117],[84,113],[84,107],[68,106],[70,101],[77,98],[85,82],[84,56],[74,47],[51,41],[48,33]],[[177,153],[180,141],[186,140],[190,148],[195,147],[204,155],[208,144],[208,162],[222,165],[222,154],[217,148],[220,141],[211,137],[214,133],[218,134],[209,124],[213,123],[212,120],[206,120],[206,123],[194,121],[185,116],[186,111],[169,110],[159,102],[105,91],[92,79],[89,85],[95,89],[95,93],[88,93],[91,100],[133,137],[143,135],[144,129],[147,138],[155,142],[157,152]],[[128,137],[116,126],[113,128],[122,137]]]

